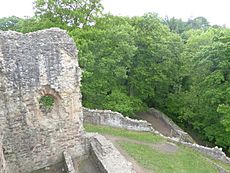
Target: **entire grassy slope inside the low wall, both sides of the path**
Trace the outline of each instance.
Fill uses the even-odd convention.
[[[98,132],[104,135],[122,137],[132,141],[119,141],[118,144],[141,166],[159,173],[217,173],[216,168],[202,154],[178,146],[176,153],[163,153],[151,147],[150,143],[164,142],[160,136],[146,132],[134,132],[105,126],[84,125],[87,132]],[[137,141],[137,143],[135,143]],[[145,142],[138,144],[138,142]],[[218,162],[217,162],[218,163]],[[218,163],[229,170],[229,165]]]

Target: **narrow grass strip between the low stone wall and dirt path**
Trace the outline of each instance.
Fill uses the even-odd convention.
[[[104,135],[125,137],[128,139],[148,142],[148,143],[156,143],[164,140],[160,136],[156,136],[152,133],[147,133],[147,132],[128,131],[124,129],[117,129],[117,128],[111,128],[106,126],[96,126],[92,124],[84,124],[84,127],[87,132],[98,132]]]

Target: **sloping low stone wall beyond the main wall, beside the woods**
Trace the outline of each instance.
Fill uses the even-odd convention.
[[[192,137],[188,133],[183,131],[178,125],[176,125],[164,113],[154,108],[150,108],[148,112],[151,115],[155,116],[156,118],[159,118],[162,121],[164,121],[171,128],[171,137],[179,138],[180,140],[185,141],[185,142],[195,143],[195,141],[192,139]]]

